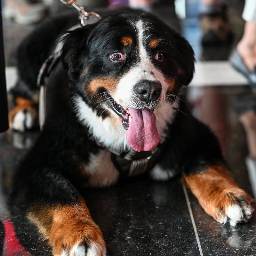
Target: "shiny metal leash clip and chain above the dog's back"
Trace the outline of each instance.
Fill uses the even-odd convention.
[[[80,13],[80,21],[82,26],[92,24],[101,19],[100,14],[96,12],[86,12],[84,6],[81,6],[76,3],[76,0],[60,0],[62,4],[72,5]]]

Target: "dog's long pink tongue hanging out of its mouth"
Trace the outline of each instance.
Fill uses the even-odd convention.
[[[160,138],[156,128],[156,116],[146,108],[129,108],[132,120],[126,133],[126,140],[135,151],[154,149]]]

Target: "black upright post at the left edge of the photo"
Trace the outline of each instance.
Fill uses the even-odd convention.
[[[2,7],[0,1],[0,132],[8,129],[8,106],[7,92],[5,83],[5,61],[4,61],[4,41],[3,41],[3,22]]]

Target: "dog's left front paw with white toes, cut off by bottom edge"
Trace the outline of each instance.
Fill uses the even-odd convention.
[[[106,245],[100,228],[92,222],[67,223],[53,230],[54,256],[106,256]]]

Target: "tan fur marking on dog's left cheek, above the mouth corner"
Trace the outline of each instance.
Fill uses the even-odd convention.
[[[87,91],[90,94],[96,93],[100,88],[106,88],[111,94],[115,94],[118,81],[113,77],[95,78],[87,85]]]

